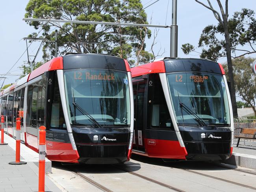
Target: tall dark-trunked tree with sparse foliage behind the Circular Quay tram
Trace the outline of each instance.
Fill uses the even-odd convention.
[[[220,0],[217,0],[221,11],[220,13],[213,9],[210,0],[207,0],[209,6],[198,0],[195,1],[207,9],[210,9],[219,22],[217,26],[209,25],[204,28],[199,39],[198,47],[203,48],[200,54],[201,58],[207,58],[213,61],[217,61],[219,57],[227,58],[228,76],[230,79],[231,96],[233,98],[232,108],[233,114],[236,117],[237,105],[234,76],[232,72],[232,54],[234,54],[233,58],[236,58],[256,52],[256,20],[254,18],[254,11],[242,9],[241,12],[236,12],[233,18],[228,20],[228,0],[225,1],[224,8]],[[221,38],[223,36],[224,39]],[[237,48],[238,46],[244,46],[246,44],[249,44],[251,50],[239,50]],[[206,47],[206,49],[204,47]],[[182,45],[182,50],[185,54],[189,54],[189,52],[195,51],[195,47],[187,43]],[[237,56],[236,51],[243,51],[243,54]]]

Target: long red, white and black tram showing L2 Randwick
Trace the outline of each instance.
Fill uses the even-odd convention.
[[[0,93],[4,131],[39,150],[39,127],[46,127],[51,161],[113,164],[129,161],[134,102],[125,59],[103,54],[56,57]]]

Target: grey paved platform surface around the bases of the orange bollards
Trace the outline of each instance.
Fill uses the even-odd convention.
[[[4,136],[9,137],[6,134]],[[22,152],[24,153],[20,151],[20,154]],[[26,161],[27,164],[9,165],[11,161],[15,161],[15,151],[9,145],[0,145],[0,192],[38,191],[38,167],[35,163],[22,156],[20,161]],[[45,184],[45,191],[61,192],[47,176]]]

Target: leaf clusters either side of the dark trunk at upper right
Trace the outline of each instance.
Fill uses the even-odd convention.
[[[254,11],[242,9],[241,12],[235,12],[233,17],[228,19],[228,32],[230,37],[231,51],[234,58],[243,55],[255,53],[256,41],[256,19]],[[202,48],[201,58],[217,61],[220,57],[226,56],[226,41],[224,37],[224,28],[221,23],[218,25],[208,25],[202,31],[198,42],[198,47]],[[237,46],[250,44],[251,49],[245,50],[244,54],[236,55]],[[193,45],[187,43],[182,45],[184,54],[195,51]]]

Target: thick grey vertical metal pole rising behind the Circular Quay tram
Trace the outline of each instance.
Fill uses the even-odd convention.
[[[178,57],[177,0],[173,0],[170,56]]]

